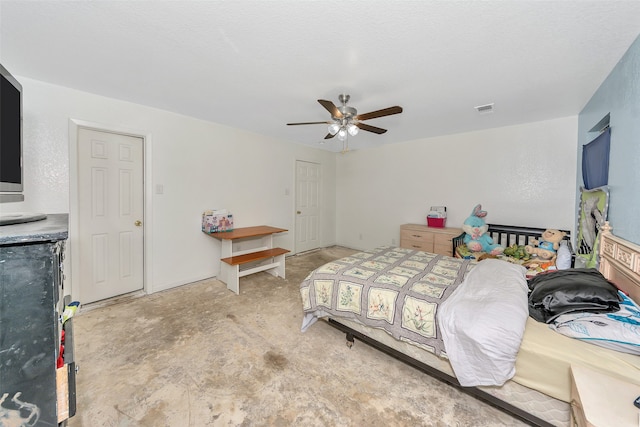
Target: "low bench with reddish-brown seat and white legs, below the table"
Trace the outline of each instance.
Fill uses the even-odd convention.
[[[285,263],[284,255],[289,253],[287,249],[283,248],[271,248],[257,252],[249,252],[243,255],[230,256],[222,258],[221,268],[224,270],[223,275],[227,279],[227,287],[235,292],[240,293],[240,281],[241,277],[249,274],[258,273],[260,271],[266,271],[267,273],[275,276],[285,276]],[[271,259],[268,264],[257,264],[260,261]],[[240,266],[256,263],[255,266],[246,269],[240,269]]]

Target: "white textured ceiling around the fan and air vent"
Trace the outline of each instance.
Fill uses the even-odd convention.
[[[404,108],[352,149],[576,115],[639,33],[638,0],[0,2],[15,75],[332,151],[286,123],[340,93]]]

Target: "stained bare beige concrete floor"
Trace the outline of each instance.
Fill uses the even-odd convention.
[[[82,308],[68,425],[523,425],[324,322],[300,332],[300,282],[352,252],[289,257],[287,279],[247,276],[240,295],[211,279]]]

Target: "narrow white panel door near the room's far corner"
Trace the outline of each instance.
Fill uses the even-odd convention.
[[[296,161],[296,253],[320,247],[320,165]]]

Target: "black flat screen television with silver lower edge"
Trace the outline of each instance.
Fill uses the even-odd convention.
[[[22,85],[0,64],[0,203],[24,200]]]

